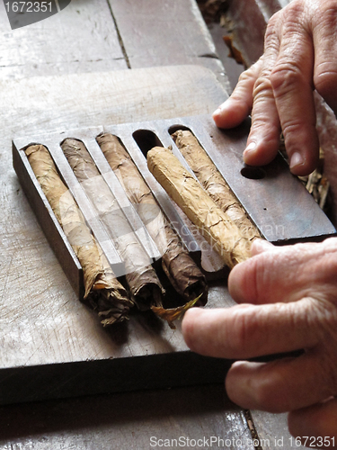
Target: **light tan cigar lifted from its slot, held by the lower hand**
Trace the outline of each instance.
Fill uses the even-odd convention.
[[[242,236],[226,212],[217,206],[168,148],[155,147],[148,151],[147,166],[209,244],[214,246],[226,266],[232,268],[250,257],[252,241]]]

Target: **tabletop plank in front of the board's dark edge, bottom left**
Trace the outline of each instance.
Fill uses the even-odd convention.
[[[208,439],[189,448],[254,450],[244,414],[228,401],[223,384],[12,405],[0,415],[1,450],[144,450],[179,438]],[[211,437],[227,445],[219,440],[210,447]]]

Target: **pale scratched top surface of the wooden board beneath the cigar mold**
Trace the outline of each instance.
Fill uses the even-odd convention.
[[[0,85],[6,93],[0,99],[5,130],[0,157],[2,367],[103,360],[116,351],[120,356],[139,355],[153,347],[162,353],[186,350],[180,334],[163,334],[161,327],[152,339],[146,320],[135,320],[133,328],[121,333],[120,342],[78,302],[13,173],[10,140],[28,132],[168,118],[177,109],[209,113],[219,98],[226,98],[215,76],[204,67],[155,67],[7,80]],[[215,289],[214,295],[218,302],[231,304],[226,287]],[[129,347],[129,339],[137,341],[137,349]]]

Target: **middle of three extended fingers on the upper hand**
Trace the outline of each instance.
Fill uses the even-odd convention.
[[[262,68],[253,88],[252,127],[244,150],[244,162],[251,166],[268,164],[279,150],[279,113],[270,84],[270,73],[279,55],[275,22],[272,19],[268,25]]]

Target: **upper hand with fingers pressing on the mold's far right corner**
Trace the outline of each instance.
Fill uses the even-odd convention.
[[[268,164],[283,131],[290,170],[315,169],[319,142],[313,91],[337,112],[337,0],[293,0],[268,23],[264,53],[213,118],[232,128],[252,114],[244,162]]]

